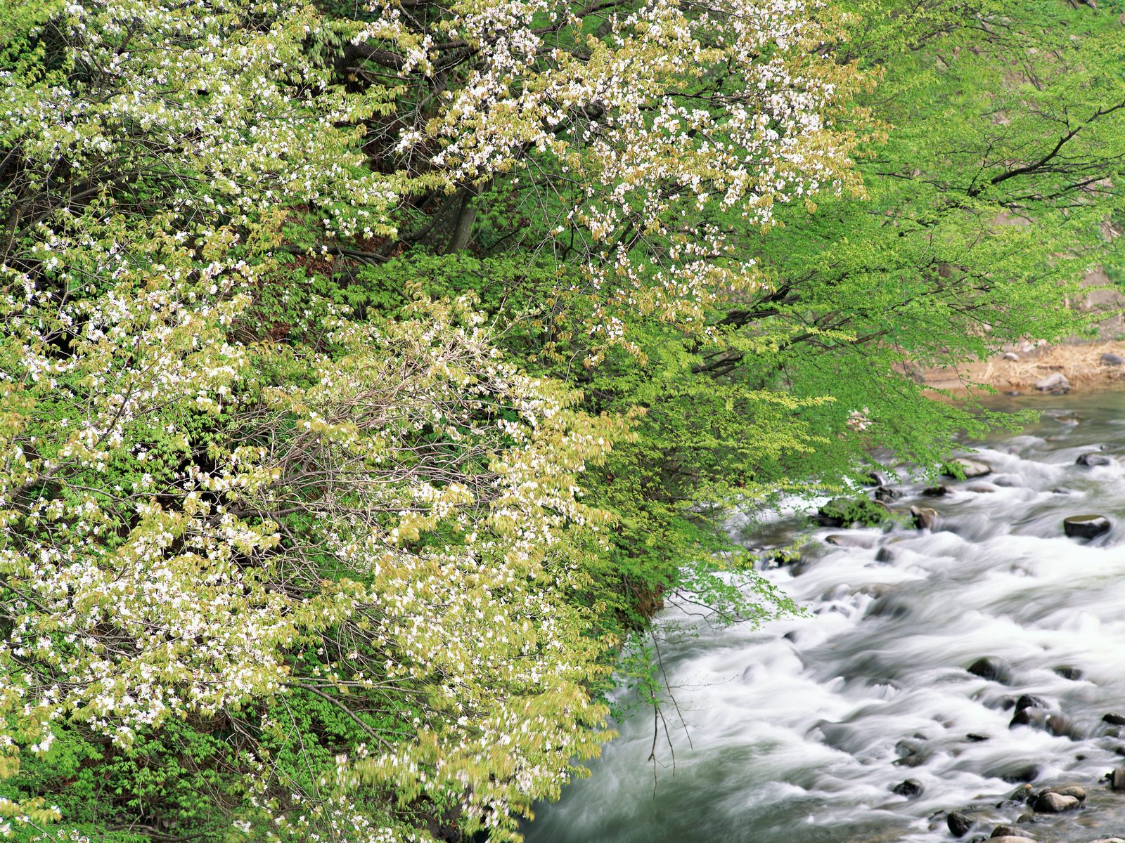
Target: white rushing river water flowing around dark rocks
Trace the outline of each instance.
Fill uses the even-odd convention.
[[[973,456],[992,466],[992,491],[904,484],[894,506],[934,507],[934,532],[846,531],[875,545],[845,549],[822,541],[843,531],[817,531],[802,564],[766,572],[808,617],[700,625],[666,651],[685,726],[666,711],[674,769],[658,745],[654,794],[651,714],[615,724],[592,777],[540,807],[529,843],[921,843],[952,840],[944,812],[966,807],[981,816],[971,840],[1027,813],[1002,800],[1028,778],[1090,792],[1081,812],[1028,826],[1040,841],[1125,832],[1125,794],[1099,783],[1125,764],[1125,729],[1101,720],[1125,715],[1125,395],[1018,406],[1041,422]],[[1076,465],[1096,450],[1122,463]],[[1113,529],[1064,537],[1063,517],[1087,513]],[[890,561],[876,561],[883,547]],[[1008,682],[970,673],[980,656],[1007,660]],[[1046,701],[1036,719],[1061,713],[1063,734],[1009,727],[1023,694]],[[892,792],[907,778],[920,796]]]

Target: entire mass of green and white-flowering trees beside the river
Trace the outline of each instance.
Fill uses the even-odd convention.
[[[518,840],[662,597],[786,608],[709,514],[1084,329],[1119,12],[4,7],[0,830]]]

